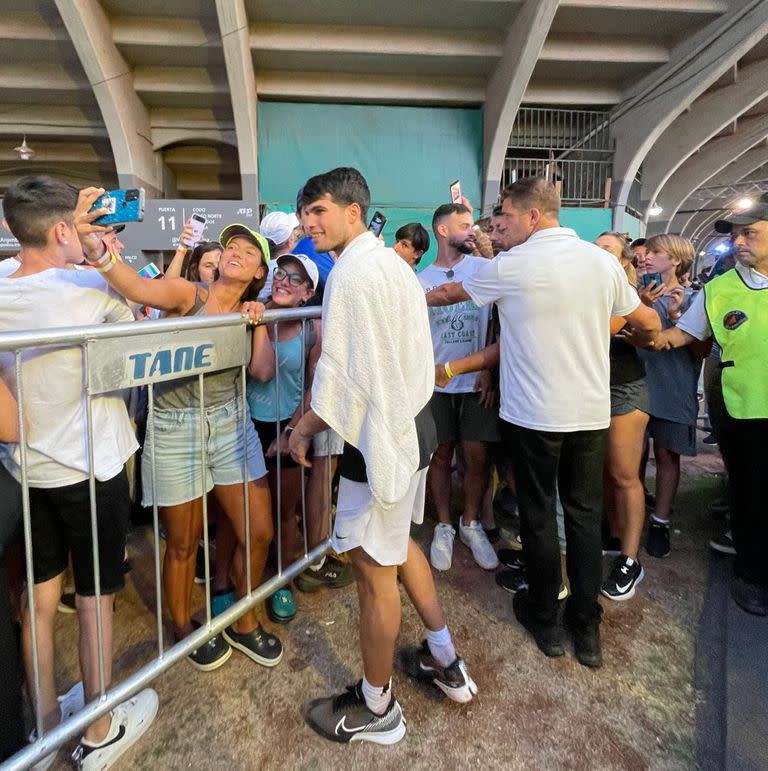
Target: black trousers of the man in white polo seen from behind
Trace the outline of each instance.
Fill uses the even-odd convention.
[[[561,569],[555,502],[559,491],[565,513],[570,609],[581,620],[598,620],[608,429],[554,433],[506,422],[503,429],[515,472],[531,614],[543,623],[557,618]]]

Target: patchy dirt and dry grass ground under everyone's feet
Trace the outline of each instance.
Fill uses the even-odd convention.
[[[438,590],[460,655],[480,693],[469,705],[396,672],[408,733],[393,747],[335,745],[304,723],[301,706],[341,690],[362,671],[354,587],[296,593],[299,614],[276,631],[286,653],[266,670],[234,653],[212,673],[181,662],[156,681],[160,712],[121,769],[690,769],[695,767],[694,645],[709,554],[708,503],[719,492],[711,448],[685,463],[675,503],[672,555],[642,560],[636,597],[604,601],[605,666],[568,651],[547,659],[512,614],[512,596],[456,541]],[[428,546],[431,524],[415,532]],[[156,650],[150,533],[132,535],[134,570],[117,602],[116,676]],[[606,558],[606,570],[608,558]],[[202,605],[202,592],[196,589]],[[423,638],[403,593],[401,643]],[[76,620],[58,618],[61,690],[77,677]],[[274,625],[270,628],[275,629]],[[64,753],[57,768],[66,768]]]

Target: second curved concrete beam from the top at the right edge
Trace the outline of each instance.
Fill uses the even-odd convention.
[[[641,200],[652,203],[675,170],[713,136],[768,96],[768,59],[739,70],[734,83],[704,94],[676,118],[643,162]]]

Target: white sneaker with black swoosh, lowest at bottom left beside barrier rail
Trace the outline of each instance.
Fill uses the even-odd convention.
[[[118,704],[112,710],[112,724],[101,744],[80,740],[72,753],[75,768],[78,771],[105,771],[112,766],[152,725],[158,704],[157,694],[151,688]]]

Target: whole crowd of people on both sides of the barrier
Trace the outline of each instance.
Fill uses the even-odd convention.
[[[153,505],[175,640],[199,626],[195,580],[210,574],[212,613],[220,614],[296,560],[305,542],[312,548],[330,537],[334,551],[272,594],[266,613],[289,623],[296,589],[355,582],[362,677],[306,712],[333,741],[393,744],[405,734],[391,680],[398,579],[425,627],[423,642],[404,653],[406,670],[454,701],[477,694],[431,569],[457,569],[457,532],[481,569],[497,571],[496,583],[514,595],[516,618],[545,655],[565,653],[562,616],[578,661],[600,667],[599,597],[630,600],[651,569],[645,556],[670,554],[680,458],[696,453],[707,355],[709,417],[732,501],[718,548],[736,554],[735,601],[768,614],[760,558],[768,525],[760,475],[749,463],[768,427],[768,294],[759,291],[768,288],[768,201],[718,223],[731,234],[735,268],[705,277],[701,288],[691,281],[689,241],[663,234],[630,242],[612,231],[583,241],[560,226],[558,192],[536,177],[506,188],[487,220],[475,222],[466,199],[445,204],[434,212],[431,238],[410,223],[388,248],[369,231],[365,179],[334,169],[306,182],[295,213],[270,212],[258,230],[232,224],[217,241],[194,243],[188,223],[165,274],[152,280],[122,261],[123,226],[95,222],[102,193],[44,176],[8,189],[4,213],[20,252],[0,263],[0,332],[239,312],[253,323],[248,384],[243,399],[240,367],[208,373],[201,400],[197,377],[158,382],[149,431],[140,393],[93,398],[99,635],[81,350],[25,350],[21,392],[13,354],[0,354],[0,546],[18,549],[23,463],[37,664],[18,565],[11,588],[0,585],[0,643],[7,675],[19,656],[8,630],[19,618],[27,692],[38,699],[45,731],[98,697],[100,658],[111,680],[126,535],[132,516]],[[431,239],[437,256],[416,272]],[[321,318],[259,323],[267,309],[319,303]],[[645,481],[651,450],[654,494]],[[330,478],[338,480],[333,501]],[[427,501],[436,520],[428,558],[410,537]],[[211,565],[200,547],[204,502]],[[497,549],[502,538],[506,547]],[[605,575],[604,554],[614,558]],[[67,581],[83,682],[62,698],[54,622]],[[251,609],[188,661],[207,672],[233,651],[265,667],[283,658],[279,636]],[[21,693],[8,677],[0,699],[4,756],[24,741]],[[114,763],[158,705],[147,688],[93,722],[74,752],[78,767]]]

